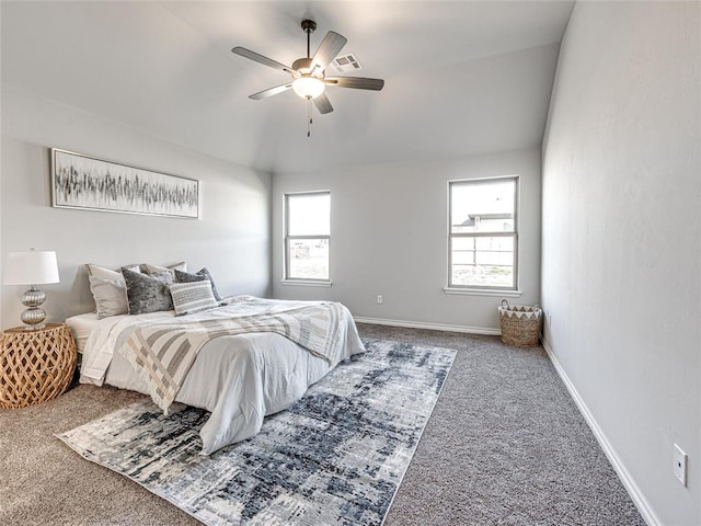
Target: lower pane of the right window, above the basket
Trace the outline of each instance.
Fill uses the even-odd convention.
[[[514,241],[513,237],[453,238],[450,284],[468,287],[513,287]]]

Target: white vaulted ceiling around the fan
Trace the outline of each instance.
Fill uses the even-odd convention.
[[[2,83],[256,169],[301,171],[529,148],[542,139],[573,1],[1,3]],[[302,19],[348,38],[381,92],[248,95],[306,56]]]

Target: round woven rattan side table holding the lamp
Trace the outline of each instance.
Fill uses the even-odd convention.
[[[61,395],[73,378],[77,356],[65,323],[4,331],[0,336],[0,408],[26,408]]]

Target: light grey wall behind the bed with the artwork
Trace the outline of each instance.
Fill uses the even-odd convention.
[[[50,147],[197,179],[200,219],[53,208]],[[61,282],[42,287],[49,321],[94,308],[84,263],[186,261],[207,266],[222,294],[269,291],[269,174],[3,85],[0,186],[3,263],[31,247],[57,252]],[[21,324],[24,288],[2,286],[3,328]]]

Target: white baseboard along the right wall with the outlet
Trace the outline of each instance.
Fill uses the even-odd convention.
[[[643,519],[645,521],[645,523],[647,523],[648,526],[663,526],[662,521],[657,518],[657,515],[655,515],[655,512],[653,512],[653,508],[647,502],[647,499],[645,499],[640,488],[637,487],[637,484],[629,473],[628,469],[625,469],[625,466],[623,466],[623,462],[621,461],[618,454],[616,453],[616,449],[613,449],[613,446],[611,446],[611,444],[609,443],[608,438],[606,437],[606,434],[604,433],[604,430],[601,430],[596,419],[589,411],[589,408],[587,408],[587,404],[584,402],[584,400],[577,392],[576,387],[574,387],[574,384],[572,382],[572,380],[570,380],[570,377],[563,369],[562,365],[560,365],[560,362],[555,357],[555,354],[553,353],[552,348],[550,348],[550,345],[548,345],[548,342],[542,338],[541,338],[541,342],[543,344],[543,347],[545,348],[545,353],[548,353],[548,357],[550,358],[550,362],[555,367],[558,375],[560,375],[560,378],[562,379],[563,384],[567,388],[567,391],[570,391],[570,395],[572,396],[574,402],[577,404],[577,408],[579,409],[579,412],[584,416],[584,420],[586,420],[587,424],[589,424],[589,427],[591,428],[594,436],[596,437],[599,445],[601,446],[601,449],[604,449],[606,457],[609,459],[609,462],[611,462],[613,470],[616,471],[619,479],[623,483],[623,487],[625,488],[625,490],[628,491],[628,494],[631,496],[633,503],[637,507],[637,511],[643,516]]]

